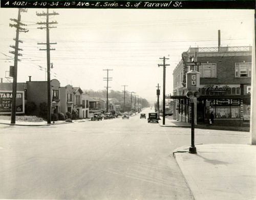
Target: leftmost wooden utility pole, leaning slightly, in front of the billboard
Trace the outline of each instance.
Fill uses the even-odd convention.
[[[12,82],[12,109],[11,109],[11,124],[15,124],[16,121],[16,96],[17,96],[17,69],[18,69],[18,56],[22,56],[22,54],[18,53],[18,51],[23,51],[22,49],[18,48],[18,42],[23,43],[22,40],[19,40],[19,32],[28,32],[28,30],[22,28],[21,26],[27,26],[23,23],[20,23],[21,15],[20,12],[27,12],[26,9],[19,8],[18,9],[18,18],[17,19],[10,19],[14,21],[17,24],[10,24],[10,27],[16,28],[16,38],[15,40],[15,46],[10,46],[14,49],[14,51],[9,51],[10,53],[14,54],[14,66],[10,66],[10,77],[13,77]]]

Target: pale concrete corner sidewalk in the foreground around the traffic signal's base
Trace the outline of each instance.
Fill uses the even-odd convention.
[[[174,157],[195,200],[256,199],[256,146],[196,145],[174,151]]]

